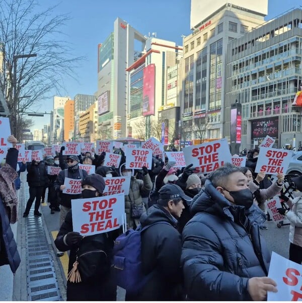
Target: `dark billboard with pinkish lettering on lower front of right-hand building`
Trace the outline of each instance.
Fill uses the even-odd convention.
[[[279,117],[263,118],[252,121],[252,139],[264,139],[267,135],[278,139]]]

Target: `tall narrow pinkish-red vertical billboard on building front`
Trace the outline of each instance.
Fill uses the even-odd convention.
[[[142,115],[154,115],[155,108],[155,64],[143,69],[142,82]]]

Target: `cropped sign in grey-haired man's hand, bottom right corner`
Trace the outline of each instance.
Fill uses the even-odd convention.
[[[276,284],[278,292],[267,292],[268,301],[300,301],[302,299],[302,265],[272,252],[268,277]]]

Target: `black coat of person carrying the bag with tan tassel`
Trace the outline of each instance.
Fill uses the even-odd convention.
[[[72,213],[71,209],[67,212],[65,221],[61,225],[59,233],[54,241],[55,246],[61,252],[70,250],[68,272],[72,269],[74,261],[77,259],[77,250],[79,246],[68,246],[64,243],[64,236],[72,232]],[[114,238],[112,232],[108,234],[98,234],[94,236],[85,237],[80,246],[85,245],[91,237],[97,237],[99,241],[104,241],[104,247],[109,247],[109,250],[104,249],[109,259],[112,256]],[[83,247],[82,247],[83,248]],[[105,278],[103,281],[100,279],[92,278],[89,281],[82,281],[80,283],[72,283],[67,281],[67,301],[98,301],[98,300],[116,300],[116,285],[110,276],[109,261],[108,270],[106,270]],[[80,273],[81,274],[81,273]]]

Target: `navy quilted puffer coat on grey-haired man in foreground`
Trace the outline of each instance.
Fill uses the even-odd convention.
[[[191,204],[182,234],[181,263],[191,300],[251,300],[248,280],[267,276],[270,253],[257,223],[210,180]]]

